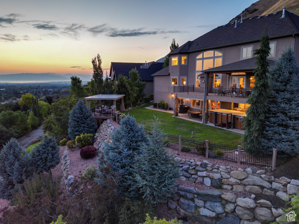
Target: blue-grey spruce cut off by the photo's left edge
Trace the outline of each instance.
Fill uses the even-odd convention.
[[[12,138],[0,154],[0,198],[10,197],[15,183],[22,184],[29,175],[29,158],[17,139]]]

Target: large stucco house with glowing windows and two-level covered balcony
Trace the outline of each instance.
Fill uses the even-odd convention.
[[[169,70],[154,76],[154,101],[177,104],[203,112],[203,123],[219,123],[229,114],[233,128],[242,129],[246,100],[254,86],[256,68],[253,51],[267,29],[270,65],[291,46],[299,61],[299,16],[280,11],[266,16],[225,24],[169,53]],[[294,80],[296,81],[296,80]],[[176,105],[176,106],[175,106]],[[231,114],[230,114],[231,113]]]

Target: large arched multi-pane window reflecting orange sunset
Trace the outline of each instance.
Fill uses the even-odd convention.
[[[223,53],[217,50],[209,50],[200,53],[196,56],[196,72],[195,72],[195,84],[199,87],[200,84],[200,74],[202,70],[206,70],[213,67],[218,67],[222,65]],[[216,81],[215,81],[216,80]],[[214,74],[214,87],[218,87],[221,80],[221,74]]]

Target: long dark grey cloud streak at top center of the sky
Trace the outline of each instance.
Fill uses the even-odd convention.
[[[131,36],[146,36],[146,35],[156,35],[156,34],[165,34],[165,33],[183,33],[179,30],[153,30],[153,31],[143,31],[144,28],[138,29],[121,29],[118,30],[117,28],[111,28],[111,31],[106,34],[106,36],[110,37],[131,37]]]

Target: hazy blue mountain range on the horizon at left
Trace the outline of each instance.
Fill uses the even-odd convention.
[[[91,75],[56,74],[56,73],[19,73],[0,75],[0,81],[70,81],[71,76],[78,76],[82,81],[90,81]]]

